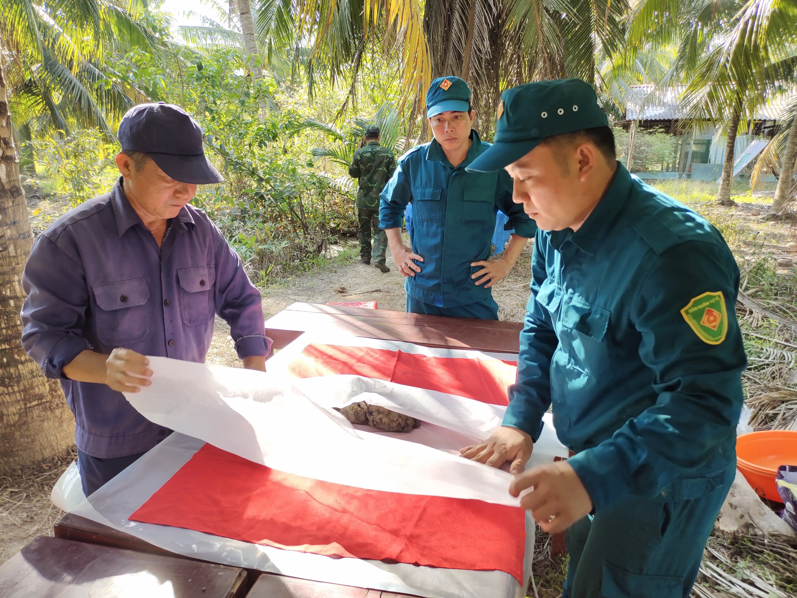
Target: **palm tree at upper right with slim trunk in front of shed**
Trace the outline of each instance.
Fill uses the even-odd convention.
[[[709,118],[727,129],[720,204],[732,203],[740,125],[795,76],[795,30],[793,0],[642,0],[630,15],[629,53],[677,45],[658,85],[687,83],[681,101],[689,120]]]

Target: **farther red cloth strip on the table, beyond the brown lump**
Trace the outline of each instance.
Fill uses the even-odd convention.
[[[514,362],[427,357],[336,344],[308,344],[288,371],[297,378],[354,374],[397,384],[448,392],[482,403],[508,405],[507,388],[515,383]]]

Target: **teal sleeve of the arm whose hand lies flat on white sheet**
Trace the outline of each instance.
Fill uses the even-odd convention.
[[[509,406],[503,422],[504,426],[528,433],[534,442],[542,434],[543,415],[551,404],[551,359],[559,344],[551,314],[535,299],[546,277],[539,247],[540,243],[536,243],[532,258],[532,297],[526,305],[517,356],[517,378],[508,389]]]

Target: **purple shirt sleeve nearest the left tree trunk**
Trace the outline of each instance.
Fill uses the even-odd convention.
[[[88,306],[83,267],[50,238],[33,245],[22,274],[22,346],[48,378],[91,349],[82,335]]]

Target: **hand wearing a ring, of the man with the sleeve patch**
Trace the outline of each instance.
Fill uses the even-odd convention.
[[[520,506],[529,509],[532,517],[548,533],[560,533],[592,510],[592,499],[578,474],[567,461],[556,461],[532,467],[515,477],[509,494],[520,496]]]

